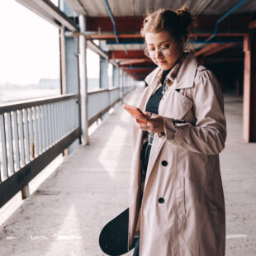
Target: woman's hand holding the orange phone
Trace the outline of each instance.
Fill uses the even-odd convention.
[[[139,126],[140,129],[146,130],[149,133],[160,134],[164,132],[164,116],[149,112],[145,112],[144,114],[145,116],[134,116],[136,125]],[[146,121],[146,124],[140,121]]]

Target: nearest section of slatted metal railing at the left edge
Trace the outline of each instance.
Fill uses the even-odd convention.
[[[80,136],[78,95],[0,107],[0,207]]]

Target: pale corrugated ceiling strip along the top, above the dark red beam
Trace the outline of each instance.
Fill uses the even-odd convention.
[[[107,8],[104,0],[65,0],[65,2],[78,15],[89,17],[107,17]],[[173,10],[186,6],[192,15],[221,15],[230,11],[241,0],[108,0],[111,12],[114,16],[144,16],[146,12],[152,12],[159,7]],[[256,1],[248,0],[234,13],[255,12]]]

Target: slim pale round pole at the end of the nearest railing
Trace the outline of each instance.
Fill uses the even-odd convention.
[[[86,29],[85,16],[79,16],[80,31]],[[88,79],[86,62],[87,41],[85,36],[79,36],[79,73],[80,73],[80,104],[81,104],[81,131],[82,145],[89,145],[88,136]]]

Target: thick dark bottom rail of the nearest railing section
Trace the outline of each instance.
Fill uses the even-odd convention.
[[[17,192],[21,191],[33,178],[36,177],[52,160],[54,160],[64,149],[67,149],[74,140],[80,136],[79,128],[69,132],[64,139],[60,140],[45,153],[26,164],[20,171],[12,174],[4,182],[0,183],[0,207],[9,201]]]

